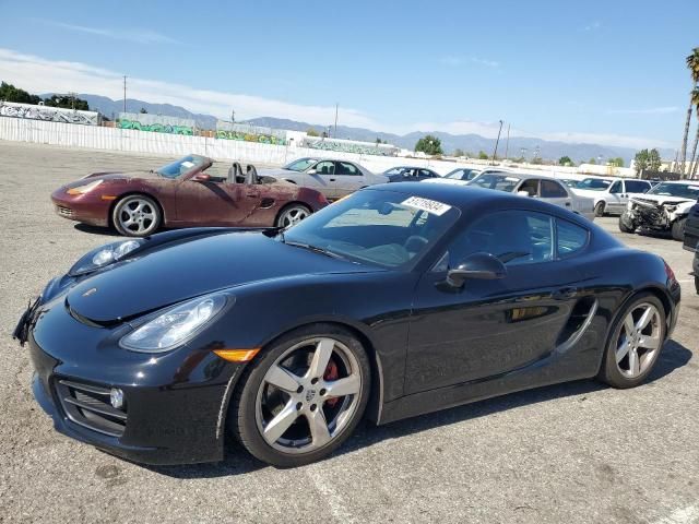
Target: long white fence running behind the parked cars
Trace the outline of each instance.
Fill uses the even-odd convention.
[[[158,156],[183,156],[189,153],[209,156],[220,160],[239,160],[260,165],[281,166],[304,156],[332,155],[333,158],[356,162],[366,168],[381,172],[395,166],[429,167],[445,175],[457,167],[485,167],[485,160],[457,163],[426,158],[403,158],[393,156],[359,155],[356,153],[319,152],[295,145],[259,144],[237,140],[185,136],[180,134],[155,133],[118,128],[74,126],[61,122],[44,122],[20,118],[0,117],[0,140],[32,142],[64,147],[87,147],[93,150],[121,151]],[[514,167],[514,166],[513,166]],[[633,176],[628,168],[604,168],[596,166],[600,175]],[[541,170],[547,175],[562,176],[590,172],[576,167],[518,165],[516,170]],[[606,171],[606,172],[605,172]],[[612,172],[611,172],[612,171]]]

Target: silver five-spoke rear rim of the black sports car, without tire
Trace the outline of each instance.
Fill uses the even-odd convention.
[[[653,365],[661,334],[661,314],[652,303],[639,303],[627,313],[616,343],[616,365],[624,377],[635,379]]]

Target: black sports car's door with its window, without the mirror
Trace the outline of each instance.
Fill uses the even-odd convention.
[[[493,378],[550,354],[581,281],[574,264],[558,257],[554,227],[544,213],[495,212],[449,245],[416,288],[407,394]],[[476,252],[498,257],[507,275],[445,286],[448,269]]]

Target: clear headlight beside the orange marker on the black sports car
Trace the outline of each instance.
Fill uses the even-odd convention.
[[[126,349],[163,353],[180,346],[212,322],[233,297],[215,293],[166,310],[119,341]]]

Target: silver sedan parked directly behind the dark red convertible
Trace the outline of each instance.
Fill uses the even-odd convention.
[[[376,175],[354,162],[311,157],[299,158],[276,169],[260,169],[259,174],[315,189],[328,200],[341,199],[367,186],[389,181],[388,177]]]

